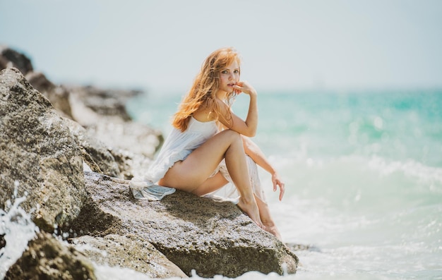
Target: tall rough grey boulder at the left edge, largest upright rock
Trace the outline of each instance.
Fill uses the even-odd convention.
[[[0,72],[0,203],[15,185],[40,229],[77,217],[86,198],[80,149],[49,100],[16,68]],[[31,211],[32,209],[32,211]]]

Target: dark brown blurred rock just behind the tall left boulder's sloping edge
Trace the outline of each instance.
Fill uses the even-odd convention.
[[[49,99],[54,108],[59,111],[62,116],[73,119],[71,104],[69,103],[70,93],[66,88],[60,85],[54,85],[40,72],[30,72],[26,75],[26,79],[36,90]]]

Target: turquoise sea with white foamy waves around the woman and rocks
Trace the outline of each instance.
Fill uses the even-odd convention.
[[[148,92],[127,109],[166,136],[184,93]],[[235,114],[248,102],[238,95]],[[286,186],[279,201],[260,170],[270,211],[283,241],[302,250],[296,274],[237,279],[442,279],[442,90],[264,91],[258,111],[253,141]]]

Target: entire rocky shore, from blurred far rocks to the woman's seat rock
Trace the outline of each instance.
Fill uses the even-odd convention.
[[[8,47],[1,69],[0,213],[25,197],[38,226],[4,279],[99,279],[102,265],[150,278],[296,272],[296,255],[230,202],[181,191],[133,198],[128,180],[163,141],[126,112],[141,92],[54,85]],[[16,250],[8,234],[0,226],[0,262]]]

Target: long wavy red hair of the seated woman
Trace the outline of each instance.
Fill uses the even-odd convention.
[[[241,63],[239,54],[232,47],[217,49],[205,59],[201,71],[193,80],[191,89],[184,96],[177,113],[173,116],[172,125],[175,128],[184,132],[189,125],[191,115],[202,105],[210,110],[210,114],[213,114],[216,121],[218,120],[220,108],[215,102],[215,95],[220,87],[220,72],[234,61],[237,61],[238,65]],[[226,102],[229,108],[232,106],[232,99],[235,95],[234,92],[227,94]],[[227,118],[229,121],[232,116],[227,116]]]

